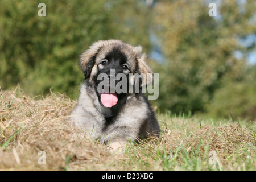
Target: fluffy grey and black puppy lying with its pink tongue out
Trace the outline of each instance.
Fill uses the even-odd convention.
[[[153,72],[146,64],[146,54],[141,51],[141,46],[133,47],[121,40],[100,40],[80,56],[85,82],[80,86],[80,95],[70,113],[70,120],[90,137],[108,144],[114,151],[131,140],[139,142],[151,136],[159,137],[158,121],[142,93],[142,88],[152,84]],[[112,79],[118,74],[122,75],[122,82],[127,82],[134,89],[135,73],[150,75],[137,79],[139,92],[129,92],[125,86],[121,86],[123,92],[117,93],[115,90],[109,93],[121,82]],[[110,83],[110,86],[100,86],[99,89],[102,84],[100,75],[105,75],[105,83]]]

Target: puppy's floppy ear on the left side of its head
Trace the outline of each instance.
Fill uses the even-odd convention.
[[[95,42],[80,56],[80,66],[82,68],[82,72],[84,72],[85,79],[90,77],[90,73],[92,72],[92,68],[95,64],[97,53],[100,51],[100,47],[101,42]]]

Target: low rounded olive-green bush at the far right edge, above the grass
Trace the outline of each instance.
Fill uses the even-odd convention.
[[[218,118],[256,118],[256,66],[247,69],[239,80],[232,77],[222,80],[225,84],[214,93],[207,106],[207,115]],[[230,79],[231,80],[227,80]]]

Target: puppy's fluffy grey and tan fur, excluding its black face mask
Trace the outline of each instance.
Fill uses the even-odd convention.
[[[92,56],[95,56],[96,61],[90,77],[86,78],[85,82],[81,84],[80,96],[76,107],[70,113],[70,121],[93,139],[99,139],[104,143],[117,140],[134,140],[137,142],[139,139],[147,138],[149,135],[158,136],[160,132],[158,122],[154,111],[152,111],[143,94],[127,94],[123,104],[120,104],[118,113],[115,113],[113,121],[107,122],[105,118],[106,115],[112,115],[114,111],[111,108],[104,107],[99,102],[96,90],[92,87],[96,84],[92,77],[98,73],[98,60],[104,57],[104,53],[112,51],[112,48],[116,46],[121,47],[121,50],[130,61],[132,73],[135,70],[136,60],[139,61],[138,65],[141,65],[140,71],[151,72],[144,60],[146,55],[141,55],[141,47],[133,47],[119,40],[94,43],[81,56],[80,64],[84,72]],[[88,75],[88,73],[86,74]]]

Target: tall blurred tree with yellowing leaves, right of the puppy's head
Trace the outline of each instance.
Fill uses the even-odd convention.
[[[256,4],[239,3],[221,2],[216,18],[208,15],[206,1],[160,1],[156,5],[155,32],[166,58],[156,67],[160,77],[156,104],[160,108],[173,113],[207,111],[216,90],[228,84],[222,81],[225,75],[246,73],[245,60],[234,52],[250,50],[239,40],[256,32],[252,23]],[[225,112],[225,108],[221,110]]]

